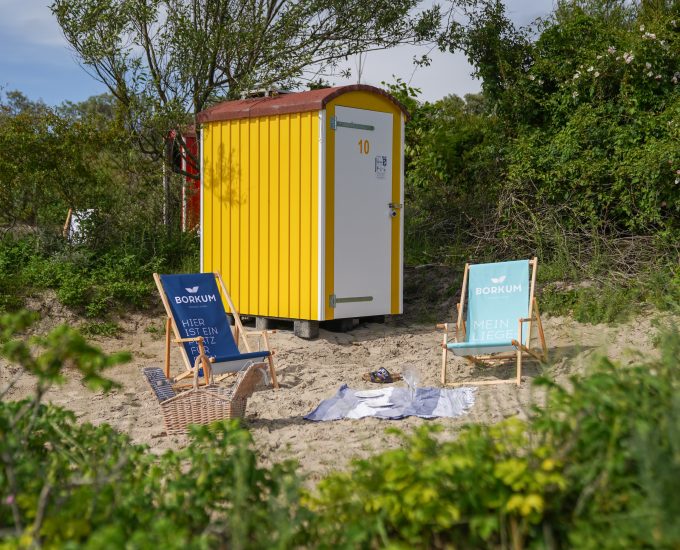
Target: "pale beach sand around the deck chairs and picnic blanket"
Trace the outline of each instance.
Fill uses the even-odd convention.
[[[444,305],[449,306],[448,302]],[[58,322],[74,325],[82,322],[51,300],[43,300],[38,309],[43,313],[38,330]],[[442,309],[441,303],[438,309]],[[481,386],[469,414],[436,421],[367,418],[313,423],[302,418],[322,399],[332,396],[341,384],[355,389],[379,387],[362,381],[361,376],[380,366],[390,372],[413,369],[421,386],[438,386],[441,331],[434,328],[434,323],[418,322],[413,316],[397,317],[385,324],[360,324],[348,333],[322,329],[314,341],[296,338],[291,330],[279,330],[272,335],[271,344],[276,350],[281,388],[258,387],[248,402],[246,425],[252,431],[264,463],[295,459],[301,473],[313,481],[331,470],[346,468],[353,458],[365,458],[399,445],[396,436],[385,434],[388,427],[409,431],[439,422],[445,427],[442,437],[455,438],[465,423],[490,423],[515,415],[526,416],[531,404],[540,402],[540,392],[532,387],[531,381],[542,373],[567,381],[570,375],[582,372],[597,354],[606,353],[622,364],[635,360],[638,352],[654,354],[653,340],[657,332],[654,319],[657,317],[647,314],[618,326],[583,325],[569,318],[547,317],[544,327],[551,355],[549,366],[525,363],[520,388],[514,384]],[[68,371],[71,375],[66,383],[51,389],[46,398],[75,411],[80,421],[111,424],[128,433],[134,442],[148,445],[153,452],[185,445],[184,436],[165,434],[160,408],[141,374],[144,367],[162,366],[164,319],[161,311],[127,315],[117,321],[122,327],[118,337],[92,340],[108,352],[132,353],[131,362],[109,371],[109,376],[120,382],[122,388],[109,394],[92,393],[81,384],[75,372]],[[176,349],[173,349],[172,364],[174,373],[183,370]],[[0,363],[0,388],[15,372],[17,367]],[[489,374],[489,371],[471,368],[458,358],[450,359],[449,372],[450,379],[456,381]],[[514,365],[491,372],[510,379]],[[29,395],[33,387],[34,380],[23,375],[5,398],[21,399]]]

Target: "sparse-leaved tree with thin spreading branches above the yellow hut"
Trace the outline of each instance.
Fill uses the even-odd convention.
[[[219,99],[294,87],[349,55],[433,38],[439,8],[409,15],[419,2],[54,0],[51,9],[82,65],[127,109],[144,150],[159,157],[171,129],[181,141],[192,115]]]

